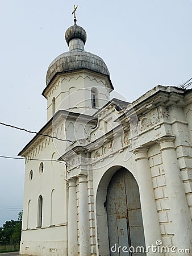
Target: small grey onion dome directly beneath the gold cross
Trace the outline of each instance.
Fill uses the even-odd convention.
[[[69,27],[65,32],[65,40],[66,40],[66,43],[68,44],[68,46],[69,46],[70,40],[72,40],[74,38],[81,39],[85,44],[86,39],[87,39],[87,34],[86,34],[86,31],[84,30],[84,28],[82,28],[78,25],[73,25],[73,26]]]

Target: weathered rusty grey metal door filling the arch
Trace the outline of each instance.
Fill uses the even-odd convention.
[[[131,172],[120,168],[107,189],[107,224],[110,255],[146,255],[128,248],[145,248],[139,187]],[[127,247],[127,248],[126,248]],[[119,248],[119,249],[118,249]]]

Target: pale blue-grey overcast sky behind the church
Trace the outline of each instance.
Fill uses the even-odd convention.
[[[192,77],[191,0],[1,1],[0,122],[38,131],[46,122],[48,65],[68,51],[65,30],[87,32],[86,51],[105,60],[114,88],[136,100],[157,84]],[[0,155],[17,156],[31,134],[0,125]],[[0,226],[23,204],[24,161],[0,158]]]

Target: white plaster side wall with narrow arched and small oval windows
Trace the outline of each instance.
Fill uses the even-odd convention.
[[[36,150],[37,148],[37,150]],[[35,159],[58,159],[59,155],[52,139],[43,139],[36,145],[29,156]],[[36,154],[35,154],[36,152]],[[53,154],[55,153],[55,154]],[[53,161],[44,163],[43,174],[39,172],[41,161],[27,160],[24,201],[23,201],[23,224],[20,253],[27,255],[53,255],[49,248],[60,251],[59,255],[66,255],[67,250],[67,196],[65,183],[65,164]],[[30,180],[30,171],[33,170],[33,179]],[[55,189],[51,204],[51,194]],[[43,196],[43,221],[42,227],[37,228],[37,202],[39,196]],[[27,225],[28,201],[30,213]],[[62,203],[61,203],[62,202]],[[51,207],[52,205],[52,207]],[[52,227],[50,228],[50,226]],[[49,241],[54,237],[52,246]],[[35,243],[35,241],[38,241]],[[38,244],[37,244],[38,243]],[[27,249],[26,249],[27,247]],[[64,254],[61,254],[61,251]]]

